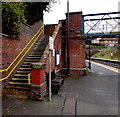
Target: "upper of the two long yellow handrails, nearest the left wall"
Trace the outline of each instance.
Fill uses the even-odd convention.
[[[32,37],[32,39],[28,42],[28,44],[22,49],[22,51],[17,55],[17,57],[13,60],[13,62],[4,70],[0,70],[0,72],[3,71],[8,71],[10,69],[10,67],[13,65],[13,63],[17,60],[17,58],[23,53],[23,51],[27,48],[27,46],[32,42],[32,40],[34,39],[34,37],[39,33],[39,31],[41,29],[44,29],[44,25],[37,31],[37,33]]]

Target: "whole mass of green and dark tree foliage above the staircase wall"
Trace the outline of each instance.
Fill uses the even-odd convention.
[[[51,0],[54,4],[57,0]],[[50,10],[50,2],[2,2],[2,32],[19,39],[20,23],[33,25],[43,21],[43,10]]]

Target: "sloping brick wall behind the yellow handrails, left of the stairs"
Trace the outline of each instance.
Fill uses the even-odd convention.
[[[38,25],[37,25],[38,24]],[[42,26],[42,22],[38,22],[34,27],[27,24],[21,24],[20,40],[15,40],[7,35],[2,35],[2,69],[6,69],[18,53],[30,41],[32,36]]]

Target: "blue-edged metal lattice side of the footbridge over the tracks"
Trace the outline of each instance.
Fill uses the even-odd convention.
[[[83,15],[82,36],[89,38],[120,37],[120,12]]]

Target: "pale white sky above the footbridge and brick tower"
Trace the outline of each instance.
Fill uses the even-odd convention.
[[[118,11],[120,0],[69,0],[69,11],[83,14],[108,13]],[[65,19],[67,12],[67,0],[60,0],[54,4],[51,12],[44,12],[44,24],[57,24],[59,20]]]

